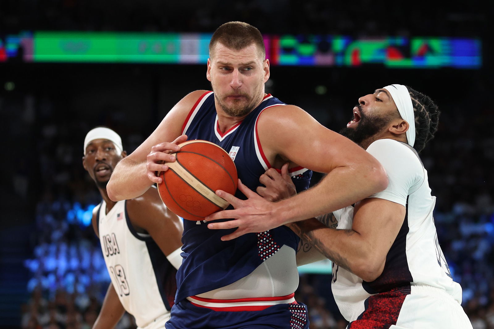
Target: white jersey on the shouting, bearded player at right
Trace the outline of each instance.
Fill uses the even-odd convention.
[[[439,246],[432,216],[436,198],[431,196],[427,171],[418,154],[408,144],[391,139],[377,140],[367,151],[383,165],[389,177],[388,187],[371,197],[405,206],[406,215],[376,280],[365,282],[333,264],[331,287],[341,314],[354,321],[364,312],[366,299],[372,294],[413,285],[440,288],[461,303],[461,287],[453,281]],[[351,229],[353,206],[333,214],[338,229]]]

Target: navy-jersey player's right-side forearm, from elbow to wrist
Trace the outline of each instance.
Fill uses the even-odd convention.
[[[273,205],[280,225],[352,205],[387,186],[382,167],[343,166],[329,172],[316,186]]]

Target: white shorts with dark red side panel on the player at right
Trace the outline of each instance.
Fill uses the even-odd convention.
[[[440,288],[414,285],[372,295],[347,329],[472,329],[463,308]]]

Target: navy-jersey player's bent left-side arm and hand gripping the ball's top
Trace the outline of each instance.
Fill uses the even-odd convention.
[[[161,164],[163,161],[174,161],[174,157],[168,153],[179,151],[176,144],[186,140],[186,136],[180,136],[182,124],[204,92],[206,90],[196,90],[182,98],[155,131],[134,152],[117,164],[107,185],[111,200],[138,197],[153,183],[159,182],[155,171],[167,169],[167,166]],[[147,162],[153,164],[146,165]]]

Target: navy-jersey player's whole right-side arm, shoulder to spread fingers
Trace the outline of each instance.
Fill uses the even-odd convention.
[[[258,133],[264,152],[271,158],[281,156],[327,175],[315,187],[278,203],[255,196],[252,200],[238,201],[218,191],[236,209],[219,211],[206,220],[237,218],[208,224],[211,229],[239,227],[225,240],[329,213],[387,186],[384,168],[364,149],[324,127],[298,107],[279,108],[282,111],[275,111],[276,107],[267,109],[259,119]]]

